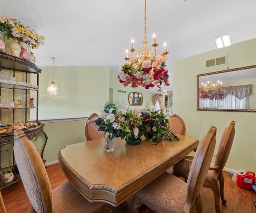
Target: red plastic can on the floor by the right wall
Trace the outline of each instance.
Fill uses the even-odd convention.
[[[240,171],[236,175],[236,183],[242,189],[254,191],[252,185],[256,185],[256,177],[252,171]]]

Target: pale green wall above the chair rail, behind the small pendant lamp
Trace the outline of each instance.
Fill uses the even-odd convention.
[[[54,67],[56,97],[46,92],[52,82],[52,67],[40,69],[39,119],[89,116],[109,100],[109,66]]]

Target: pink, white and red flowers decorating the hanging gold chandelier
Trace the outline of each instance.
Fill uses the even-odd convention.
[[[162,83],[165,86],[169,86],[168,70],[165,69],[166,65],[164,64],[165,58],[162,55],[158,55],[156,58],[156,60],[145,60],[139,64],[132,63],[130,58],[130,63],[125,63],[119,69],[119,82],[123,86],[131,84],[132,88],[142,86],[149,89],[157,86],[159,88],[158,91],[161,91],[160,86]]]

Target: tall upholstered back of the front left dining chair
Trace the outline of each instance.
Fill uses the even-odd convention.
[[[37,213],[52,212],[52,188],[44,163],[21,129],[14,131],[14,156],[22,183]]]

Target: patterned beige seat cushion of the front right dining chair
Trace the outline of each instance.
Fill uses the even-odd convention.
[[[165,172],[146,185],[136,196],[154,205],[160,212],[182,213],[187,194],[186,183]]]

